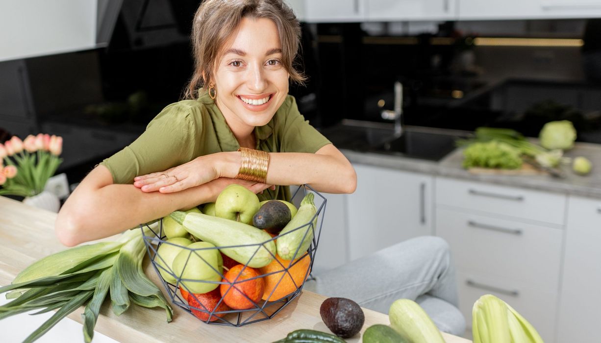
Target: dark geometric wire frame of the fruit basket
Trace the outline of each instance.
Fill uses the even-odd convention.
[[[302,192],[301,192],[301,190],[302,190]],[[290,202],[295,203],[294,200],[297,200],[296,203],[299,203],[301,201],[301,199],[304,198],[305,195],[307,195],[308,191],[311,191],[314,193],[314,195],[316,195],[316,197],[314,198],[314,203],[316,204],[317,213],[315,214],[315,216],[313,218],[311,218],[311,220],[308,223],[306,223],[305,225],[299,226],[298,228],[296,228],[292,231],[289,231],[289,232],[285,233],[284,235],[290,234],[290,232],[297,231],[297,230],[304,230],[305,235],[310,234],[310,232],[313,232],[313,240],[311,240],[311,245],[307,249],[307,254],[310,255],[310,258],[311,258],[311,263],[310,263],[310,266],[309,266],[309,269],[307,270],[307,272],[311,273],[311,270],[313,270],[313,263],[315,261],[315,255],[317,252],[317,244],[319,243],[319,237],[322,232],[322,223],[323,223],[323,217],[325,216],[327,199],[323,195],[321,195],[319,192],[316,192],[313,188],[311,188],[311,186],[308,186],[307,184],[305,184],[305,185],[300,186],[296,190],[296,192],[294,192],[294,195],[290,199]],[[297,198],[297,197],[299,197],[299,198]],[[320,200],[321,200],[321,203],[319,203]],[[313,225],[313,222],[316,222],[317,226],[319,226],[319,227],[315,228]],[[151,230],[152,235],[148,235],[148,236],[144,235],[144,226]],[[255,278],[262,278],[263,276],[281,273],[282,276],[279,279],[278,284],[276,284],[276,287],[273,288],[273,290],[275,291],[276,288],[279,286],[279,282],[281,282],[282,279],[284,279],[284,276],[288,275],[288,277],[294,282],[294,285],[296,286],[296,290],[293,291],[292,293],[282,297],[281,299],[276,299],[273,301],[260,300],[258,303],[254,304],[253,308],[250,308],[250,309],[230,309],[228,311],[216,311],[216,309],[219,308],[219,304],[221,304],[223,302],[225,295],[227,295],[227,294],[224,294],[224,296],[221,297],[221,299],[219,300],[218,304],[215,306],[213,311],[209,311],[201,302],[197,302],[198,304],[200,304],[201,307],[188,305],[188,302],[183,300],[182,297],[180,297],[180,295],[177,292],[178,287],[186,288],[185,285],[182,284],[182,281],[186,282],[186,283],[187,282],[203,282],[206,284],[228,284],[228,285],[232,285],[232,286],[230,286],[230,288],[228,290],[228,291],[231,291],[233,289],[238,289],[236,287],[236,285],[239,284],[240,282],[249,281],[249,280],[252,280],[255,278],[244,279],[243,281],[242,280],[237,281],[237,279],[236,279],[232,282],[227,282],[227,281],[222,282],[222,280],[224,280],[224,273],[219,272],[219,270],[216,270],[213,266],[211,266],[210,263],[207,263],[206,260],[204,260],[203,256],[198,254],[198,251],[221,249],[223,247],[190,249],[188,247],[180,246],[181,249],[189,250],[190,254],[194,253],[196,256],[200,257],[201,260],[204,261],[204,263],[209,265],[213,269],[213,271],[219,273],[219,275],[221,276],[219,281],[192,281],[189,279],[182,279],[181,275],[175,275],[175,273],[169,267],[165,268],[157,263],[157,261],[161,258],[161,256],[157,254],[157,249],[159,249],[161,244],[165,243],[165,240],[166,240],[166,237],[163,234],[163,220],[161,219],[159,221],[158,228],[153,229],[153,228],[150,228],[149,225],[145,225],[145,224],[140,225],[140,228],[142,231],[142,235],[144,237],[144,244],[146,246],[148,256],[150,257],[150,261],[153,265],[155,272],[159,276],[160,281],[162,281],[163,287],[165,287],[165,291],[169,294],[169,297],[171,298],[171,302],[177,306],[180,306],[180,308],[183,308],[186,312],[189,312],[190,314],[192,314],[192,310],[202,312],[207,317],[207,320],[204,321],[204,323],[239,327],[239,326],[243,326],[246,324],[257,323],[257,321],[268,320],[268,319],[272,318],[273,316],[275,316],[276,314],[278,314],[278,312],[281,311],[281,309],[283,309],[286,305],[288,305],[288,303],[290,303],[293,299],[295,299],[301,293],[304,282],[301,285],[296,285],[296,282],[294,282],[292,275],[290,275],[290,272],[288,272],[288,270],[291,267],[293,267],[296,263],[299,263],[301,261],[301,258],[306,258],[306,254],[297,251],[295,253],[295,256],[300,256],[300,257],[297,258],[293,264],[290,264],[289,266],[284,266],[280,263],[280,267],[282,267],[282,270],[277,270],[276,272],[267,273],[267,274],[259,275],[259,276],[255,277]],[[303,232],[303,231],[301,231],[301,232]],[[257,253],[258,250],[264,246],[264,244],[269,243],[269,241],[276,240],[279,237],[281,237],[281,236],[277,235],[277,236],[271,238],[270,240],[264,241],[260,244],[245,244],[245,245],[227,246],[227,247],[246,247],[246,248],[257,247],[257,250],[255,250],[255,252],[254,252],[254,253]],[[306,237],[306,236],[304,236],[304,237]],[[304,238],[303,238],[303,240],[304,240]],[[172,244],[172,243],[167,243],[167,244]],[[300,246],[299,246],[299,248],[300,248]],[[265,249],[264,247],[263,247],[263,249],[269,251],[268,249]],[[271,255],[272,255],[272,258],[274,258],[274,260],[276,260],[275,256],[273,256],[273,253],[271,253]],[[251,257],[251,259],[249,259],[249,261],[250,260],[252,260],[252,257]],[[278,261],[278,260],[276,260],[276,261]],[[290,262],[292,262],[292,261],[290,261]],[[188,262],[186,261],[186,264],[187,263]],[[163,265],[166,266],[167,264],[163,263]],[[247,267],[247,265],[245,264],[244,268],[246,268],[246,267]],[[184,270],[185,270],[185,268],[186,268],[186,266],[184,267]],[[159,270],[162,270],[163,273],[169,273],[173,278],[175,278],[176,279],[175,284],[171,284],[170,282],[165,281],[165,279],[163,279]],[[242,273],[240,273],[240,275],[242,275]],[[310,275],[307,277],[307,275],[305,274],[304,279],[310,279],[310,278],[311,278]],[[219,285],[217,288],[219,289]],[[249,299],[248,296],[246,296],[246,294],[244,294],[242,292],[240,292],[240,294],[242,294],[243,296],[246,297],[246,299],[248,299],[249,301],[252,302],[252,300]],[[273,291],[272,291],[272,294],[273,294]],[[189,296],[192,297],[192,296],[194,296],[194,294],[192,292],[189,292]],[[267,297],[267,299],[270,299],[270,297],[271,297],[271,294],[269,297]],[[194,314],[192,314],[192,315],[194,315]],[[223,317],[217,317],[217,316],[213,316],[213,315],[222,315]],[[215,318],[217,318],[217,320],[215,320]],[[210,321],[212,319],[215,321]]]

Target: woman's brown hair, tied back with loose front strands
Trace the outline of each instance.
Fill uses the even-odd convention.
[[[282,66],[294,82],[305,80],[304,74],[293,65],[301,27],[288,5],[281,0],[206,0],[198,7],[192,24],[194,74],[185,88],[185,99],[196,99],[198,88],[212,80],[224,43],[243,17],[273,20],[282,46]]]

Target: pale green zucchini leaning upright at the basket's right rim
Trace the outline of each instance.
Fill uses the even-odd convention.
[[[284,260],[294,260],[301,257],[311,245],[313,232],[317,229],[317,208],[313,203],[313,198],[313,193],[305,195],[296,216],[279,232],[275,244],[278,255]],[[313,222],[308,225],[311,219],[313,219]]]

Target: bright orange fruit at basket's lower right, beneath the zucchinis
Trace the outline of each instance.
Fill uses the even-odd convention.
[[[288,267],[293,263],[292,261],[283,260],[278,255],[275,255],[275,258],[276,260],[273,260],[270,264],[267,264],[267,266],[259,269],[259,273],[261,273],[261,275],[280,271],[279,273],[263,276],[263,279],[265,280],[265,292],[263,293],[262,299],[270,302],[281,299],[296,291],[298,287],[301,287],[309,275],[309,268],[311,265],[311,256],[309,256],[308,253],[295,260],[295,262],[298,260],[301,261],[298,261],[298,263],[294,264],[292,267]],[[284,267],[288,268],[288,272],[292,278],[290,278],[290,275],[284,271],[278,261]],[[283,279],[282,276],[284,276]],[[274,288],[275,290],[273,290]],[[271,294],[272,291],[273,294]],[[269,294],[271,294],[271,296],[269,296]]]

